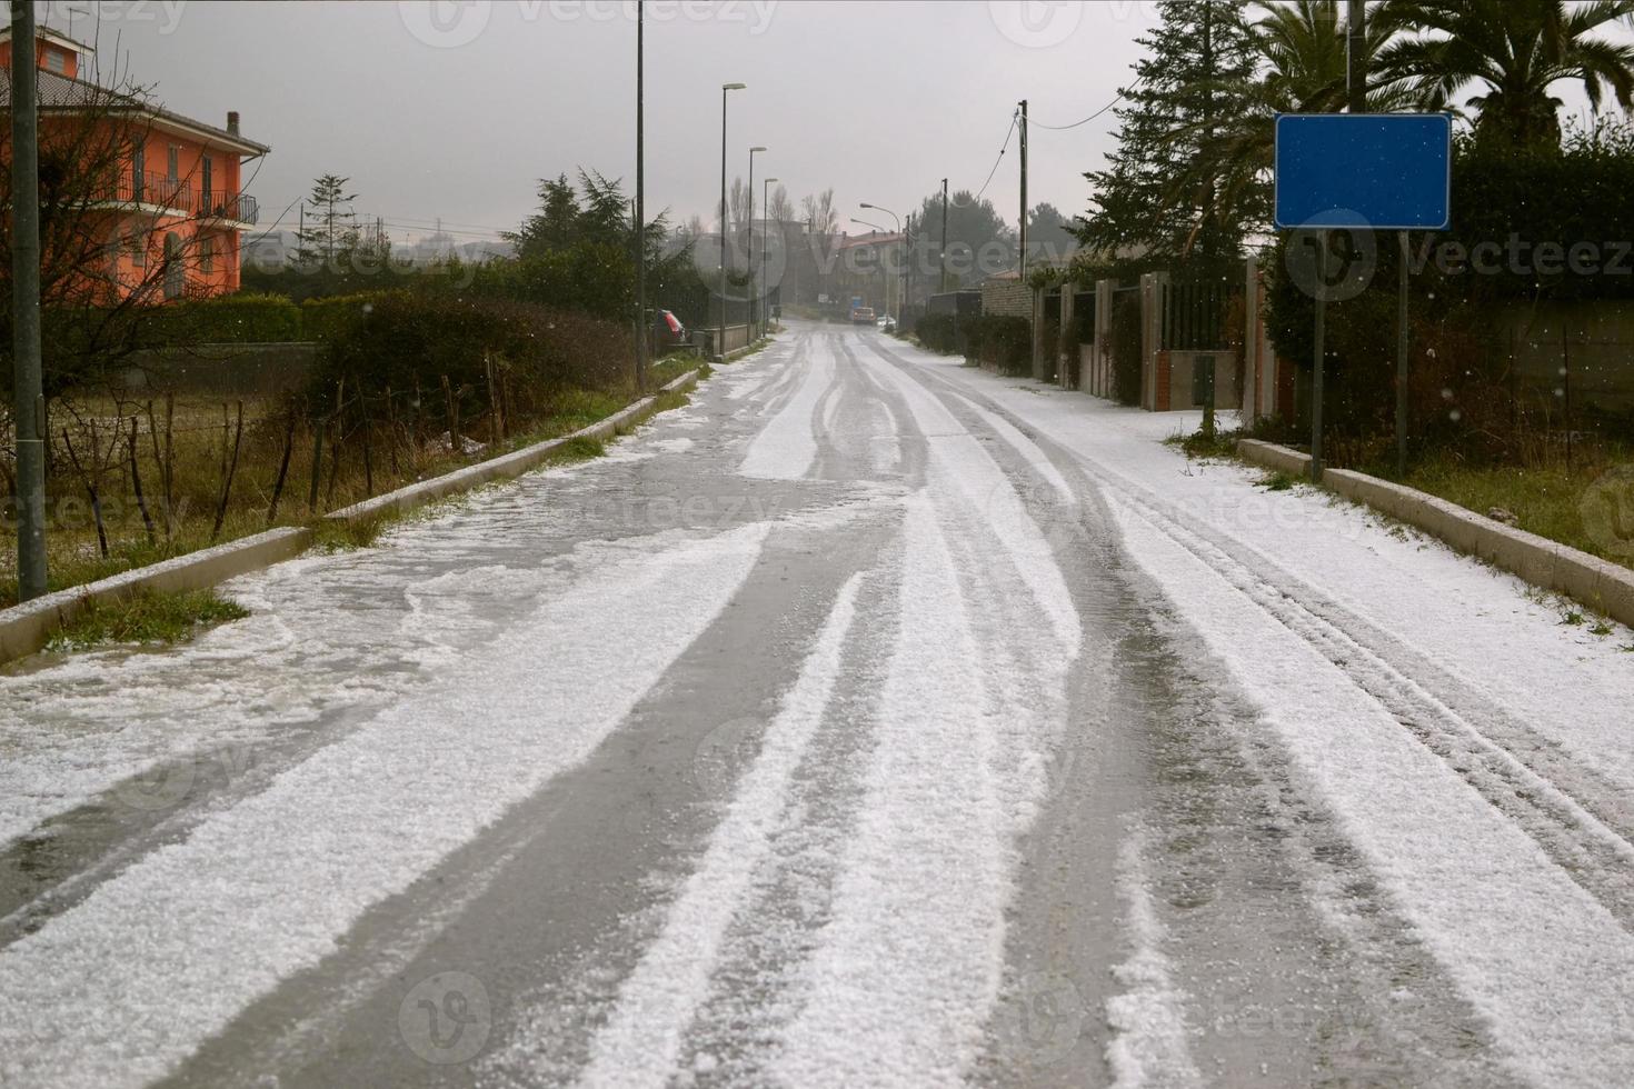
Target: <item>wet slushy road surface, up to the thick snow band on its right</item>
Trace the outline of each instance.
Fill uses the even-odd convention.
[[[232,591],[0,684],[5,1084],[1518,1081],[1082,457],[873,330]]]

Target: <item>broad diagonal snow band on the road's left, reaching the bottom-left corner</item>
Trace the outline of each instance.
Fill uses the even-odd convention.
[[[725,609],[766,524],[654,539],[373,723],[283,772],[0,953],[0,1082],[163,1076],[315,965],[554,774],[585,759]]]

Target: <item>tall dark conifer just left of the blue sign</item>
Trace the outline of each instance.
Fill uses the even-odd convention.
[[[1255,51],[1243,0],[1165,0],[1162,23],[1118,108],[1118,150],[1085,173],[1085,247],[1155,256],[1235,256],[1248,224],[1266,219],[1268,186],[1221,184],[1222,129],[1252,109]]]

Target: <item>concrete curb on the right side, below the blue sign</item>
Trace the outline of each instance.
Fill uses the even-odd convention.
[[[1289,477],[1310,477],[1310,456],[1286,446],[1240,439],[1237,452],[1243,460]],[[1322,483],[1346,500],[1366,503],[1533,586],[1575,598],[1613,620],[1634,627],[1634,571],[1624,567],[1368,473],[1328,469],[1322,473]]]

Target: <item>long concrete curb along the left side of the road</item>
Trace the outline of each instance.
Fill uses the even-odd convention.
[[[696,384],[698,371],[688,371],[681,377],[662,387],[659,392],[673,393],[678,390],[690,390]],[[369,514],[384,509],[410,509],[456,491],[475,488],[477,485],[489,483],[490,480],[510,480],[520,477],[529,469],[536,469],[549,460],[551,454],[564,442],[570,442],[577,438],[613,438],[621,428],[639,423],[645,416],[652,415],[655,402],[657,393],[644,397],[639,402],[613,413],[606,420],[596,421],[588,428],[580,428],[572,434],[564,434],[562,438],[549,439],[547,442],[538,442],[479,465],[458,469],[433,480],[422,480],[408,485],[407,488],[389,491],[387,495],[377,495],[364,503],[332,511],[324,518],[351,521],[368,518]],[[51,637],[83,612],[85,606],[92,601],[118,601],[137,593],[139,589],[168,593],[208,589],[227,581],[229,578],[237,578],[239,575],[248,575],[252,571],[273,567],[275,563],[292,560],[306,552],[310,544],[310,529],[301,526],[270,529],[253,537],[229,540],[212,549],[190,552],[186,555],[163,560],[162,563],[121,571],[119,575],[113,575],[95,583],[59,589],[57,593],[36,598],[34,601],[21,606],[0,609],[0,663],[26,658],[28,655],[44,648]]]

